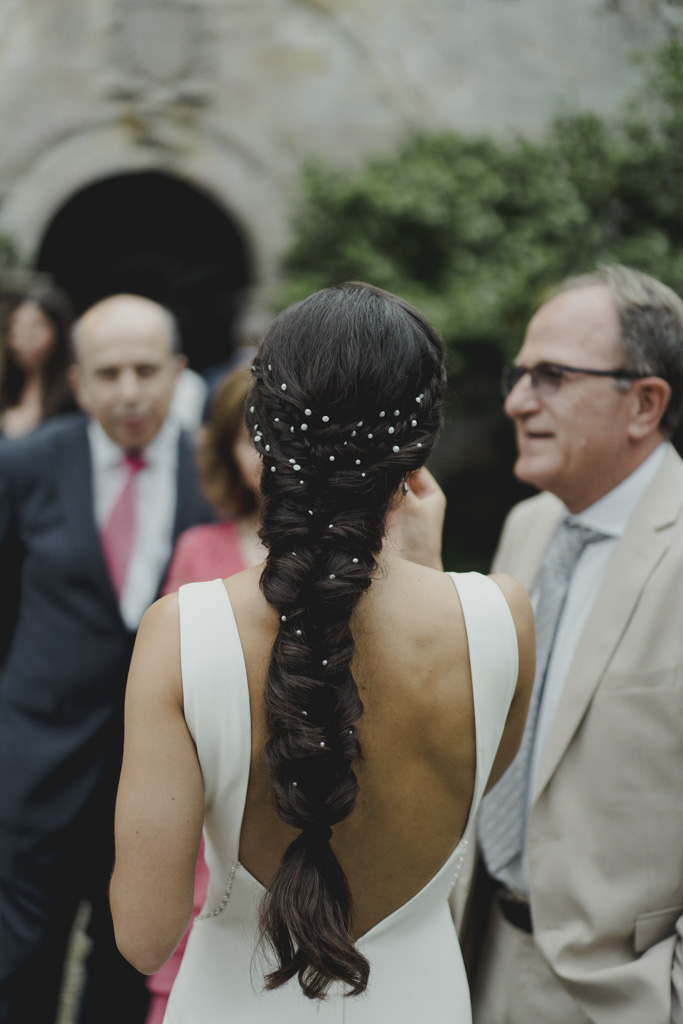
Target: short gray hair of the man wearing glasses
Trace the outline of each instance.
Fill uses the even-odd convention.
[[[671,386],[671,398],[659,422],[659,429],[670,436],[683,409],[683,301],[660,281],[617,263],[567,278],[551,297],[595,287],[607,288],[614,303],[624,369],[661,377]]]

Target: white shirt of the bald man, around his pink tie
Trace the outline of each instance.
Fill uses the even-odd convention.
[[[137,536],[124,581],[119,609],[129,630],[136,630],[157,596],[171,557],[176,506],[179,427],[167,419],[142,453],[144,467],[134,478]],[[101,530],[121,495],[128,472],[124,451],[96,420],[88,424],[92,459],[95,523]]]

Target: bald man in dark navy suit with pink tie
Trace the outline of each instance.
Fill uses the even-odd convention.
[[[0,1024],[53,1024],[83,899],[80,1024],[144,1019],[106,900],[124,688],[175,538],[211,518],[168,416],[184,366],[169,312],[104,299],[78,322],[74,352],[86,415],[0,441]]]

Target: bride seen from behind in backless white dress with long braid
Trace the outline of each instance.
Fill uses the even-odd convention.
[[[183,934],[202,828],[210,871],[167,1024],[471,1019],[447,899],[521,739],[533,627],[510,578],[441,569],[443,386],[433,328],[369,285],[263,340],[267,557],[153,605],[128,682],[112,908],[134,967]]]

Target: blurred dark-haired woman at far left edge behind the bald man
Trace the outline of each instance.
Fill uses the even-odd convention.
[[[0,431],[6,437],[76,409],[67,381],[72,322],[69,298],[57,288],[29,292],[11,313],[0,370]]]

